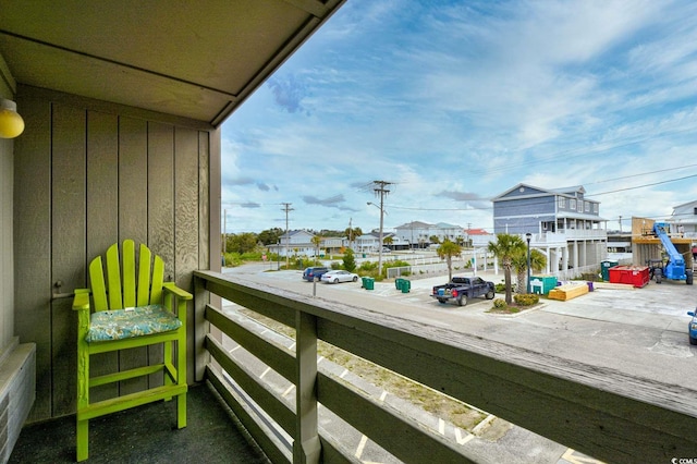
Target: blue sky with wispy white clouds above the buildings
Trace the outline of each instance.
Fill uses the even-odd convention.
[[[697,2],[350,0],[222,129],[228,232],[492,230],[518,183],[609,229],[697,199]]]

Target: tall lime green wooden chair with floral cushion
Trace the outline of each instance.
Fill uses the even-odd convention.
[[[186,427],[186,302],[192,300],[192,295],[174,283],[163,282],[162,258],[155,256],[152,259],[152,253],[143,244],[138,253],[137,269],[135,244],[132,240],[123,242],[121,260],[119,244],[111,245],[106,257],[107,279],[105,280],[101,256],[98,256],[89,265],[91,291],[75,290],[73,302],[78,325],[77,461],[84,461],[88,456],[89,419],[95,417],[176,398],[176,426]],[[162,364],[90,377],[89,357],[93,354],[159,343],[163,343]],[[159,371],[164,373],[162,386],[89,402],[91,387]]]

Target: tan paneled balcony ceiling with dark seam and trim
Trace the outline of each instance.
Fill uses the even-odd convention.
[[[343,2],[0,0],[0,56],[19,84],[217,126]]]

